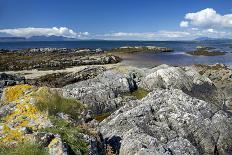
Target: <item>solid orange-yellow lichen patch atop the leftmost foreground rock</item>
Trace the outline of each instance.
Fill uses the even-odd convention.
[[[22,97],[24,93],[33,87],[30,85],[16,85],[12,87],[7,87],[4,90],[4,102],[9,103],[15,101]]]

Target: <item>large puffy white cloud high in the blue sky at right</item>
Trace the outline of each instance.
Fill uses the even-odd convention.
[[[187,13],[185,15],[185,21],[181,22],[182,26],[186,24],[183,24],[183,22],[188,22],[188,25],[206,29],[232,28],[232,14],[221,15],[213,8],[206,8],[195,13]]]

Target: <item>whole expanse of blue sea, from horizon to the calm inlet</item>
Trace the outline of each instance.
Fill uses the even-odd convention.
[[[121,46],[163,46],[174,49],[172,53],[138,53],[126,57],[123,62],[138,67],[154,67],[159,64],[191,65],[223,63],[232,66],[232,41],[43,41],[43,42],[0,42],[0,49],[24,48],[102,48],[110,49]],[[196,46],[215,47],[229,52],[224,56],[190,56],[187,51]]]

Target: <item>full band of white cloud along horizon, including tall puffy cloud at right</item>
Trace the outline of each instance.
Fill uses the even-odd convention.
[[[105,40],[192,40],[197,37],[232,38],[232,14],[221,15],[212,8],[187,13],[178,30],[154,32],[112,32],[89,34],[75,32],[67,27],[0,29],[0,33],[17,37],[63,36],[78,39]]]

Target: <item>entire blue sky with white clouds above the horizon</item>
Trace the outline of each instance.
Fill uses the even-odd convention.
[[[232,38],[231,0],[0,0],[0,36]]]

